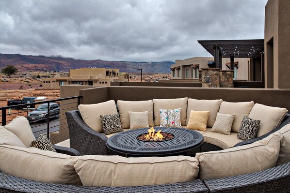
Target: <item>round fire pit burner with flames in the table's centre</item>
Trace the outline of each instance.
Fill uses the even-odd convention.
[[[149,133],[138,135],[137,139],[146,142],[157,142],[157,141],[168,141],[175,137],[173,134],[162,133],[161,130],[155,133],[155,129],[153,127],[151,129],[148,129],[148,132]]]

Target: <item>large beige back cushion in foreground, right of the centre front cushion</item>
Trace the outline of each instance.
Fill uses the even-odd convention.
[[[202,180],[224,178],[272,168],[277,162],[279,147],[279,138],[271,135],[244,146],[196,153],[198,177]]]

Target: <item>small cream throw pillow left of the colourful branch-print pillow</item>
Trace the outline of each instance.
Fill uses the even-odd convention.
[[[144,111],[144,112],[129,111],[129,119],[130,119],[129,130],[149,127],[148,114],[149,114],[149,111]]]

